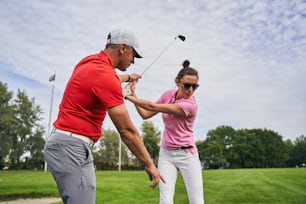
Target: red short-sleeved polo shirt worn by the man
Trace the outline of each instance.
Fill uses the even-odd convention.
[[[54,127],[86,135],[102,134],[107,108],[123,104],[122,88],[108,55],[101,51],[81,60],[69,79]]]

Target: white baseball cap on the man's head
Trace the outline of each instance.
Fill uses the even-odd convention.
[[[108,35],[107,35],[107,42],[106,44],[126,44],[129,45],[133,48],[134,50],[134,56],[136,58],[142,58],[142,56],[139,54],[139,46],[138,46],[138,40],[136,38],[136,36],[125,29],[115,29],[113,31],[111,31]]]

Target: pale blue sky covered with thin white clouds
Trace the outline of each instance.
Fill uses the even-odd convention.
[[[196,140],[221,125],[306,135],[305,0],[0,0],[0,81],[35,98],[47,130],[74,66],[103,50],[116,28],[132,31],[144,56],[118,74],[154,62],[137,83],[139,98],[176,88],[185,59],[199,71]],[[125,103],[140,130],[143,120]],[[163,130],[160,114],[150,121]],[[103,128],[115,130],[108,117]]]

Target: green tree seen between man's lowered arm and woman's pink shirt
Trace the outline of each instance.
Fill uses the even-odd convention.
[[[151,121],[143,121],[141,131],[143,142],[156,164],[158,161],[161,132],[154,127],[154,124]]]

